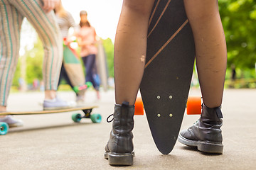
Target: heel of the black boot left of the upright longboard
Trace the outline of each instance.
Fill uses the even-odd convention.
[[[132,153],[109,153],[108,162],[110,165],[132,165],[133,155]]]

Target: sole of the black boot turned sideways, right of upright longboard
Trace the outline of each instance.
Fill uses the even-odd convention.
[[[223,145],[220,142],[200,141],[200,140],[188,140],[185,137],[178,135],[178,142],[189,147],[197,147],[201,152],[211,154],[223,154]]]

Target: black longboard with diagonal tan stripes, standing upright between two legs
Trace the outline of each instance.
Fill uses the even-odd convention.
[[[174,148],[191,85],[195,45],[181,0],[156,0],[149,18],[140,92],[156,147]]]

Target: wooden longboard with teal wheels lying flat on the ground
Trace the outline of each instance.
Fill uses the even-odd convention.
[[[50,114],[50,113],[65,113],[72,111],[82,111],[84,115],[80,113],[73,113],[72,120],[75,123],[80,123],[82,118],[90,118],[92,123],[100,123],[102,117],[100,114],[91,114],[92,109],[97,108],[97,106],[85,106],[85,107],[75,107],[75,108],[63,108],[59,110],[50,110],[50,111],[16,111],[16,112],[2,112],[0,115],[40,115],[40,114]],[[0,122],[0,135],[6,135],[9,130],[9,126],[7,123]]]

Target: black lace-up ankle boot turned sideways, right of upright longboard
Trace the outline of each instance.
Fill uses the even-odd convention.
[[[222,154],[223,137],[220,127],[223,125],[223,115],[218,108],[202,106],[201,118],[188,130],[182,130],[178,142],[191,147],[198,147],[202,152]]]

